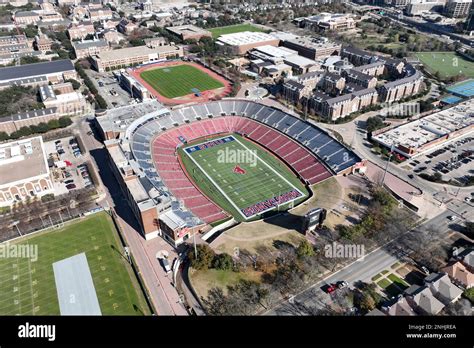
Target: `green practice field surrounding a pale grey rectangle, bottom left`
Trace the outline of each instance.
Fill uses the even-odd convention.
[[[85,252],[103,315],[149,314],[106,213],[26,237],[38,257],[0,259],[0,315],[59,315],[53,263]],[[11,243],[13,245],[13,243]]]

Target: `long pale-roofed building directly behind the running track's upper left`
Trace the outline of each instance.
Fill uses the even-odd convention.
[[[168,57],[182,56],[183,48],[181,46],[164,45],[155,48],[137,46],[102,51],[92,57],[92,63],[98,71],[102,72],[114,68],[157,62]]]

